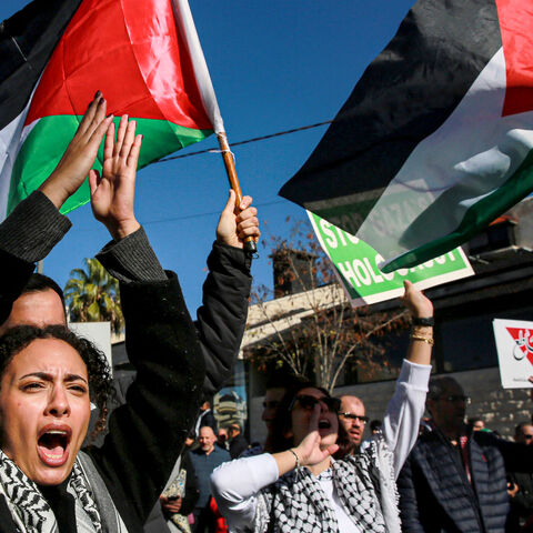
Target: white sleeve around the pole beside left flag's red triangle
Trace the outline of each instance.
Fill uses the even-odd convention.
[[[214,132],[222,133],[224,131],[224,123],[220,114],[213,83],[209,76],[208,63],[203,57],[202,46],[198,38],[191,8],[189,7],[188,0],[172,0],[172,8],[174,10],[178,31],[189,47],[189,56],[192,60],[192,67],[194,69],[194,76],[197,77],[197,83],[202,97],[203,107],[213,124]]]

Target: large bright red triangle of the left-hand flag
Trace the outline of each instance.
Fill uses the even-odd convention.
[[[212,129],[170,0],[83,0],[42,74],[26,123],[80,117],[97,90],[109,113]]]

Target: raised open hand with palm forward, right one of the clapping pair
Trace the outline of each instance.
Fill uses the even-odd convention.
[[[102,175],[95,170],[89,173],[92,212],[115,241],[140,228],[133,199],[142,135],[135,135],[135,122],[128,122],[124,114],[114,141],[114,123],[110,123],[105,133]]]

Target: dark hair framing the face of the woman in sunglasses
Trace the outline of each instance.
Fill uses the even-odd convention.
[[[323,392],[326,396],[331,398],[331,394],[325,389],[316,386],[311,381],[300,380],[293,383],[293,385],[286,390],[285,394],[283,394],[283,398],[281,399],[278,410],[275,412],[275,418],[272,422],[271,451],[273,453],[283,452],[284,450],[289,450],[295,444],[292,438],[285,436],[286,432],[290,431],[292,426],[292,411],[290,410],[290,408],[298,393],[303,389],[309,388],[316,389],[318,391]],[[335,459],[342,459],[344,455],[348,454],[350,450],[350,439],[348,436],[346,430],[341,424],[339,416],[336,416],[336,420],[339,423],[336,438],[336,444],[339,444],[339,450],[333,456]]]

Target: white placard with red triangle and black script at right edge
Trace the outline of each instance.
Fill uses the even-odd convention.
[[[494,319],[500,376],[504,389],[531,389],[533,375],[533,322]]]

